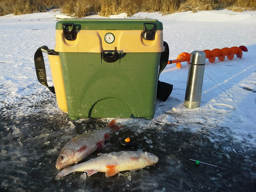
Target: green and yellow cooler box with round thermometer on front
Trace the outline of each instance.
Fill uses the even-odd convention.
[[[154,118],[163,25],[153,19],[56,23],[68,115]]]

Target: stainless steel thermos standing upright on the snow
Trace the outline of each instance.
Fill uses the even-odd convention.
[[[188,80],[184,106],[197,108],[201,104],[202,87],[204,79],[205,52],[193,51],[188,68]]]

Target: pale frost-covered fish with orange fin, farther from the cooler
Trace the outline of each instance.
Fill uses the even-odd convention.
[[[87,172],[90,177],[97,172],[105,172],[106,177],[115,175],[120,171],[135,171],[158,162],[158,157],[143,151],[120,151],[109,154],[100,154],[96,158],[74,166],[69,166],[57,174],[62,178],[72,172]]]

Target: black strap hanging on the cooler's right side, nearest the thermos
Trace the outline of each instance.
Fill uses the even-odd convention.
[[[166,67],[168,60],[169,60],[169,46],[164,41],[164,51],[161,52],[160,62],[159,62],[158,79],[159,79],[160,73]],[[172,88],[173,88],[172,84],[168,84],[158,80],[156,97],[162,101],[166,101],[172,92]]]

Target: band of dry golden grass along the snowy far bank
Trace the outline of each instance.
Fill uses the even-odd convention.
[[[98,12],[102,16],[137,12],[174,12],[216,10],[227,8],[233,11],[256,10],[256,0],[0,0],[0,16],[13,13],[45,12],[61,8],[63,13],[75,17]]]

